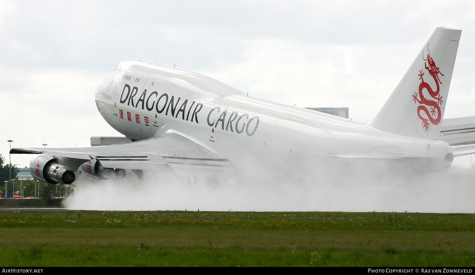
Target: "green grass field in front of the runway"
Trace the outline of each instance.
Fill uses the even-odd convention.
[[[475,266],[475,215],[0,211],[1,266]]]

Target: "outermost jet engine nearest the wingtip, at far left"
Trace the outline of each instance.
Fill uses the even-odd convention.
[[[76,179],[74,172],[67,170],[54,157],[43,154],[30,161],[30,172],[33,178],[51,184],[71,184]]]

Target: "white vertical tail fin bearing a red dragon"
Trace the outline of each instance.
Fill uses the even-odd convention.
[[[369,125],[389,133],[437,138],[462,30],[437,27]]]

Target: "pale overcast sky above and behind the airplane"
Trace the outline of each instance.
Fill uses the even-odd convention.
[[[473,1],[2,0],[0,153],[120,135],[93,95],[128,58],[368,122],[437,26],[462,29],[445,118],[474,116]]]

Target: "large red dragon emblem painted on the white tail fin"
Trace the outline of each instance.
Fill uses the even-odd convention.
[[[429,51],[429,45],[427,45],[427,50]],[[430,85],[424,81],[424,72],[423,69],[419,71],[419,80],[421,80],[421,83],[419,84],[419,92],[414,93],[412,95],[412,100],[414,101],[415,104],[422,104],[419,105],[417,108],[417,114],[419,118],[422,120],[422,126],[424,127],[424,130],[429,133],[429,125],[432,123],[433,125],[437,125],[440,123],[440,119],[442,118],[442,115],[440,114],[440,105],[442,104],[442,95],[439,95],[440,91],[440,86],[439,83],[442,84],[439,78],[439,74],[441,76],[444,76],[441,72],[440,69],[436,66],[436,63],[434,62],[434,59],[430,57],[430,51],[427,55],[427,59],[424,58],[424,51],[422,52],[422,59],[424,59],[427,62],[424,62],[424,65],[426,67],[426,70],[428,70],[429,75],[434,78],[434,81],[436,82],[437,85],[437,90],[434,91],[430,87]],[[422,90],[426,88],[429,95],[432,97],[431,99],[427,99],[424,97],[422,94]],[[437,100],[437,102],[435,100]],[[427,106],[430,107],[430,111],[428,110]],[[427,118],[422,117],[421,111],[423,113],[426,113],[425,116]],[[429,123],[430,121],[430,123]]]

